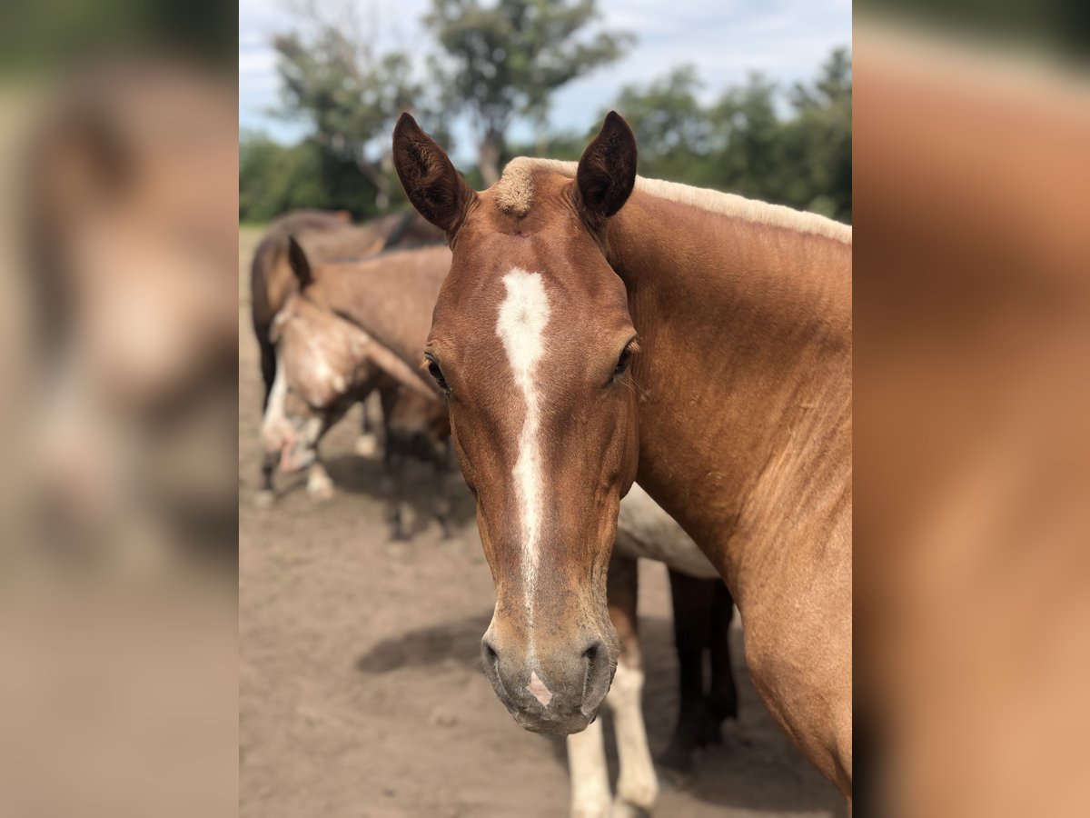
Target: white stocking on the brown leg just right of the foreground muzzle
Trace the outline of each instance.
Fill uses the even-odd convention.
[[[643,723],[643,671],[623,662],[617,665],[613,687],[606,703],[614,713],[617,732],[617,804],[614,815],[638,814],[631,807],[650,811],[658,798],[658,777],[647,747],[647,729]]]

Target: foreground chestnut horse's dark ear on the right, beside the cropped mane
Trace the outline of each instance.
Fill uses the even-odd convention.
[[[635,136],[617,111],[609,111],[576,171],[579,204],[592,225],[613,216],[635,184]]]

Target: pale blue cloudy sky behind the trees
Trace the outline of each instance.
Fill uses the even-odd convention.
[[[420,19],[431,0],[355,0],[376,31],[379,48],[429,49]],[[598,0],[601,23],[637,40],[627,56],[560,88],[553,98],[554,130],[584,133],[625,85],[647,82],[691,63],[704,94],[746,82],[751,71],[791,83],[813,77],[838,46],[851,45],[850,0]],[[291,143],[307,132],[270,111],[278,106],[275,34],[299,27],[287,0],[239,2],[239,124]],[[623,111],[621,111],[623,113]],[[473,156],[465,122],[452,127],[456,160]],[[530,139],[529,128],[512,136]]]

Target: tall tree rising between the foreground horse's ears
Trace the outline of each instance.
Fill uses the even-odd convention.
[[[596,16],[595,0],[433,0],[424,23],[446,60],[432,73],[470,115],[485,184],[499,179],[512,121],[543,123],[553,92],[620,57],[627,35],[580,36]]]

